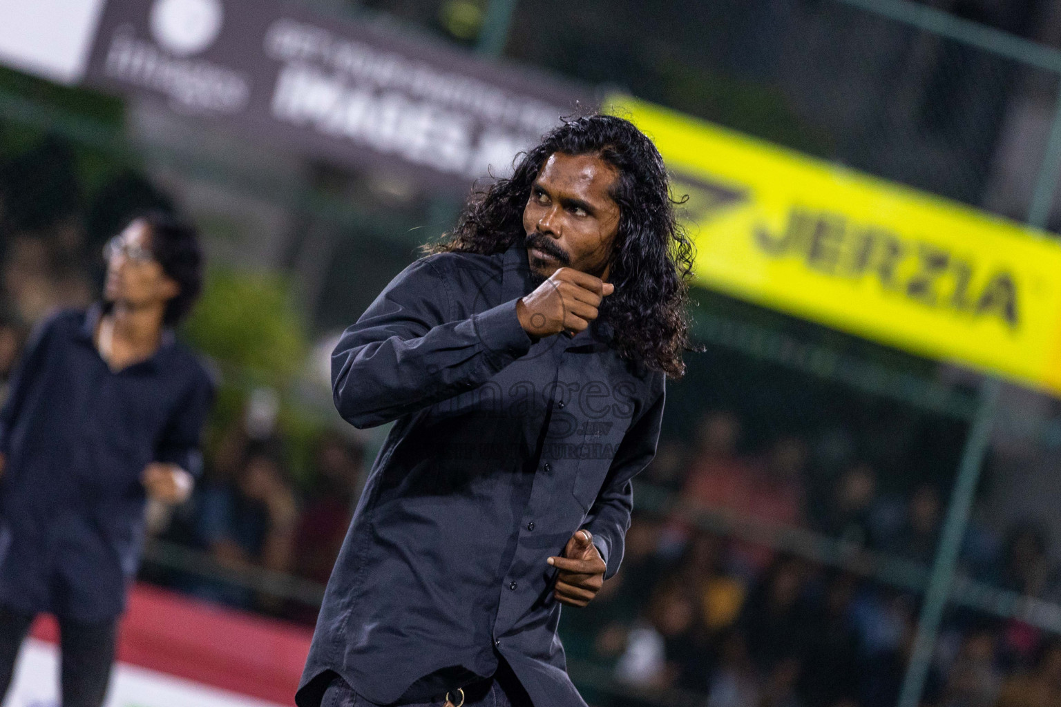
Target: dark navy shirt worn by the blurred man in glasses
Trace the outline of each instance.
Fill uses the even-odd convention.
[[[121,613],[143,537],[140,474],[197,474],[213,395],[166,330],[147,360],[112,372],[92,341],[102,310],[38,328],[0,410],[0,605],[82,621]]]

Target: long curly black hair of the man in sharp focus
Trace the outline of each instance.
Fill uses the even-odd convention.
[[[472,192],[456,228],[423,247],[428,253],[502,252],[523,231],[523,209],[538,173],[554,153],[595,155],[615,169],[611,197],[620,208],[619,232],[610,257],[615,291],[601,304],[602,321],[614,332],[613,346],[626,360],[680,378],[689,340],[689,279],[694,249],[678,223],[663,158],[632,123],[614,116],[566,120],[541,143],[516,158],[508,178]]]

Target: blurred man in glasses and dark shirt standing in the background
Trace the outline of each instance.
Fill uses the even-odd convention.
[[[0,695],[40,612],[60,630],[64,707],[99,707],[144,503],[187,498],[213,385],[174,340],[202,286],[195,231],[134,219],[103,302],[45,321],[0,410]]]

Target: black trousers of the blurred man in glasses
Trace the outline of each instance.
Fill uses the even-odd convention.
[[[35,617],[0,606],[0,702],[15,670],[18,649]],[[59,619],[63,707],[101,707],[115,662],[118,620],[82,623]]]

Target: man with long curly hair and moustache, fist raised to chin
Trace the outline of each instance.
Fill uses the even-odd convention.
[[[395,426],[297,702],[585,705],[560,605],[619,569],[689,343],[663,160],[621,118],[566,122],[428,250],[332,354],[342,416]]]

